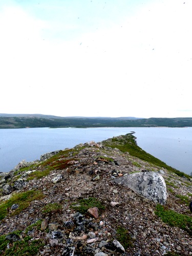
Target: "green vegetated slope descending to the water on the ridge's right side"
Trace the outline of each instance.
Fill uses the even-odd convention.
[[[112,148],[115,148],[115,147],[119,148],[119,150],[122,152],[129,152],[130,155],[134,157],[140,158],[141,160],[144,160],[148,163],[155,164],[156,166],[159,166],[161,168],[166,168],[170,172],[173,172],[180,177],[185,176],[186,178],[190,178],[189,175],[183,172],[180,172],[179,170],[171,166],[168,166],[166,163],[162,162],[158,158],[142,150],[142,148],[137,145],[135,141],[135,137],[132,135],[132,133],[105,140],[103,141],[103,145],[109,146]]]

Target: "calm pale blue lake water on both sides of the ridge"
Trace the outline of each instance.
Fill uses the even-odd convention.
[[[9,172],[21,160],[33,161],[50,151],[79,143],[96,142],[135,131],[137,144],[146,152],[182,172],[192,172],[192,127],[106,127],[0,129],[0,172]]]

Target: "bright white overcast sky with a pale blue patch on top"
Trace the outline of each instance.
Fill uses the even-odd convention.
[[[0,113],[192,117],[191,0],[0,0]]]

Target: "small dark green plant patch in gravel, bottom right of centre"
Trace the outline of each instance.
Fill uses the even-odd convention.
[[[117,240],[122,244],[125,250],[129,247],[133,247],[133,239],[131,238],[129,231],[127,229],[119,226],[116,231]]]

